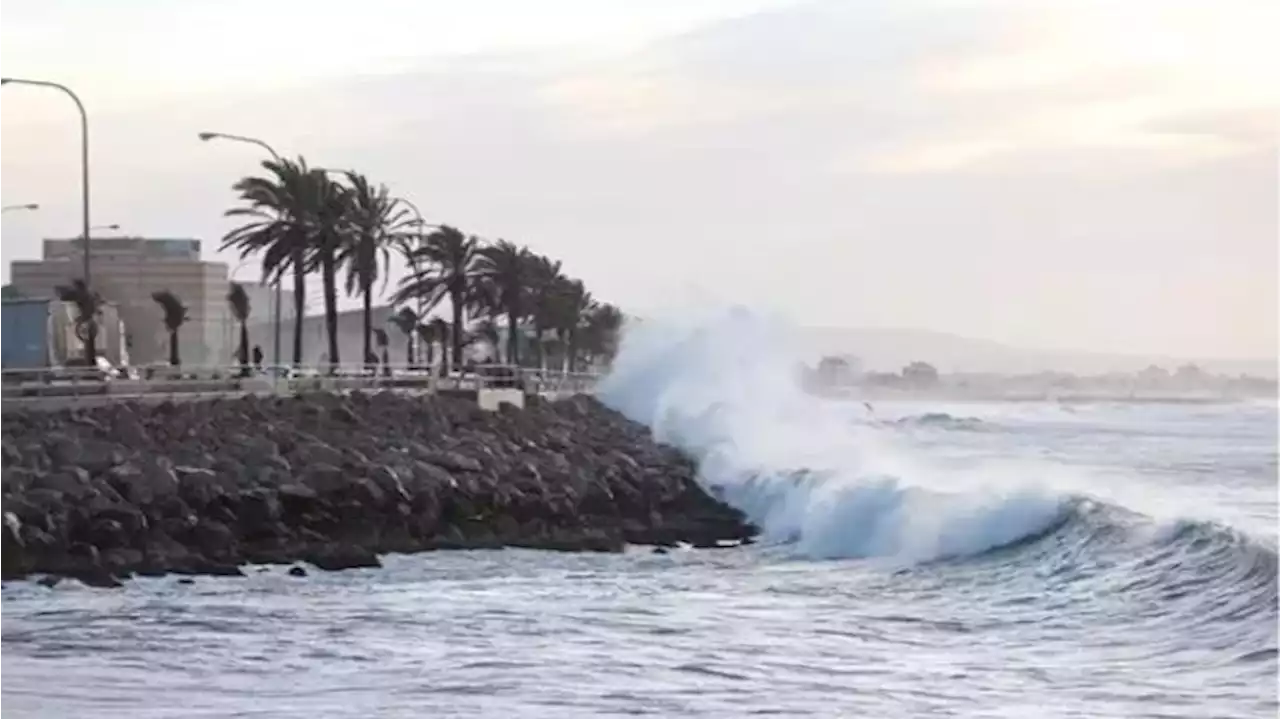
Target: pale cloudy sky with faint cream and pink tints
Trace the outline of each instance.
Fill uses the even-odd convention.
[[[358,8],[358,12],[356,10]],[[0,0],[91,115],[93,224],[232,226],[260,137],[644,312],[1271,357],[1267,0]],[[0,276],[79,223],[78,119],[0,90]],[[236,257],[227,257],[234,266]],[[237,276],[256,275],[252,265]]]

